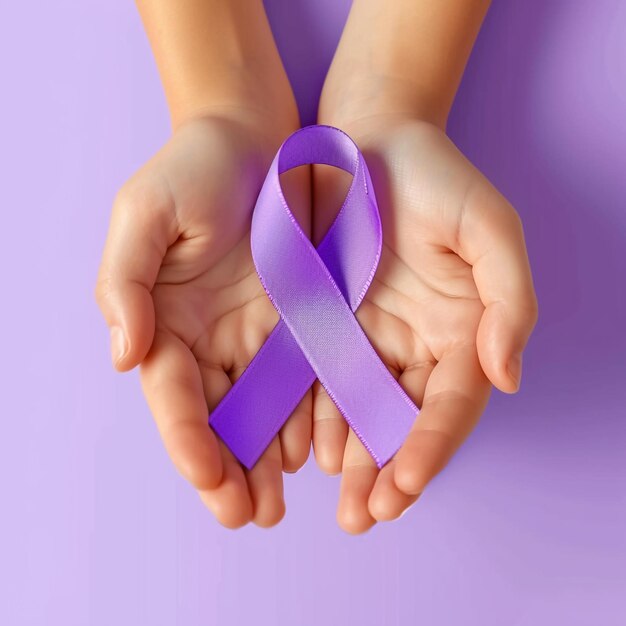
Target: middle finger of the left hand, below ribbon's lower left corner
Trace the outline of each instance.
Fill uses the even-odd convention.
[[[252,520],[253,504],[243,468],[220,442],[224,464],[222,481],[215,489],[200,491],[200,498],[217,521],[226,528],[241,528]]]

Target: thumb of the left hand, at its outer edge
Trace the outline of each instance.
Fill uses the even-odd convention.
[[[96,299],[111,333],[111,358],[125,371],[148,353],[154,336],[154,286],[172,232],[171,198],[157,188],[129,191],[115,200]]]

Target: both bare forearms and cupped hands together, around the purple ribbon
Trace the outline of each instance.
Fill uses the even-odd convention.
[[[488,3],[355,0],[320,101],[319,122],[364,152],[383,220],[381,263],[357,318],[421,407],[381,471],[319,385],[252,471],[208,427],[277,321],[254,271],[250,217],[299,120],[260,1],[137,4],[174,133],[114,203],[96,296],[115,367],[141,365],[167,451],[225,526],[280,521],[282,470],[302,466],[311,437],[320,467],[342,472],[342,528],[395,519],[467,437],[491,384],[518,389],[537,317],[517,214],[445,135]],[[315,166],[311,180],[299,168],[282,183],[319,241],[345,173]]]

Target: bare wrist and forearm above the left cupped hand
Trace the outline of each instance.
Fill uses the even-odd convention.
[[[137,0],[172,125],[205,115],[273,113],[295,99],[261,0]]]

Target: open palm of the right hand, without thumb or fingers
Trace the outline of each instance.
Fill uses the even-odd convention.
[[[378,346],[388,366],[429,369],[453,346],[475,343],[484,308],[472,267],[454,251],[476,172],[443,134],[423,124],[373,134],[361,146],[384,232],[362,323],[373,338],[394,329],[396,341]]]

